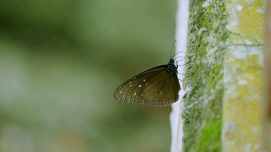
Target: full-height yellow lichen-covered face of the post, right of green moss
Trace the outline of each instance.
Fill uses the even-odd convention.
[[[231,47],[225,56],[223,151],[261,151],[263,52],[249,52],[262,49],[262,0],[227,0],[226,10],[228,44],[243,47]]]

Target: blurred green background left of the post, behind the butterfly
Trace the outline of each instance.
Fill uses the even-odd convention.
[[[169,151],[170,106],[121,104],[166,64],[175,0],[0,0],[1,151]]]

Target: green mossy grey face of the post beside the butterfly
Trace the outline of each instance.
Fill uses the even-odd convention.
[[[183,151],[221,150],[224,0],[190,0]],[[198,31],[205,27],[201,35]],[[208,146],[211,145],[211,146]]]

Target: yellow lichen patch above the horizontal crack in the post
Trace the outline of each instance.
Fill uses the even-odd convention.
[[[262,42],[263,10],[262,0],[227,0],[227,11],[230,14],[227,28],[249,40]]]

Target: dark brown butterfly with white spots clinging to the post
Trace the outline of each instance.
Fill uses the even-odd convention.
[[[168,105],[178,100],[181,89],[174,59],[166,65],[156,66],[139,73],[122,83],[114,98],[122,103]]]

